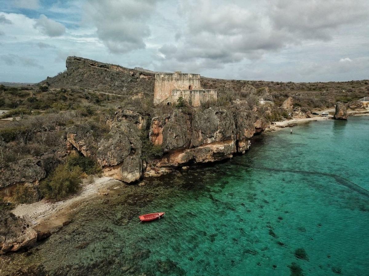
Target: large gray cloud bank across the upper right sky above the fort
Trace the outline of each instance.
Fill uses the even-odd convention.
[[[339,28],[368,21],[367,1],[181,1],[186,24],[175,43],[158,49],[159,70],[169,66],[213,68],[244,59],[255,60],[306,40],[329,41]],[[256,8],[253,10],[252,8]]]

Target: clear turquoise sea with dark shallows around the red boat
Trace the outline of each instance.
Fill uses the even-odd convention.
[[[0,274],[369,275],[368,157],[369,117],[262,134],[231,161],[85,202]]]

